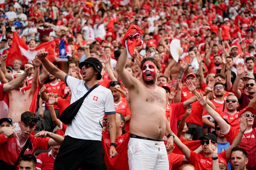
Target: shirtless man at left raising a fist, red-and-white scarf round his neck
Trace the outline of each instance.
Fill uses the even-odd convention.
[[[30,85],[27,86],[28,78],[26,78],[18,88],[8,92],[8,96],[9,96],[8,117],[11,118],[12,122],[14,123],[19,122],[21,114],[29,110],[31,100],[38,86],[39,66],[41,62],[36,57],[32,61],[32,63],[35,66],[35,73],[34,73],[34,78],[31,83],[31,86]],[[20,72],[15,74],[15,78],[20,76],[21,76]]]

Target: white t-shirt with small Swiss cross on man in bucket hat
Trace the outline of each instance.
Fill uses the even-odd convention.
[[[72,95],[70,103],[84,96],[90,90],[83,80],[66,75],[65,82]],[[77,139],[101,140],[104,115],[116,114],[111,91],[101,85],[95,88],[85,99],[66,129],[65,135]]]

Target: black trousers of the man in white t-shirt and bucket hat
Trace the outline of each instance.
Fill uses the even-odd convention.
[[[66,136],[54,161],[53,170],[105,170],[101,141]]]

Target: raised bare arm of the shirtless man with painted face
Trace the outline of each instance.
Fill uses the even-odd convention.
[[[127,87],[128,89],[131,89],[132,87],[134,87],[136,85],[136,81],[139,81],[139,80],[137,80],[135,77],[133,77],[132,74],[129,73],[129,71],[125,69],[127,58],[128,58],[127,50],[126,50],[126,48],[124,48],[124,50],[122,51],[121,55],[119,56],[119,58],[117,60],[116,71],[117,71],[120,79],[122,80],[124,86]]]

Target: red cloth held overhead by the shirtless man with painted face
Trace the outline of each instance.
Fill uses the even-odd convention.
[[[127,55],[129,59],[132,58],[134,48],[143,44],[143,41],[139,39],[140,33],[140,27],[132,25],[124,35],[122,45],[127,49]]]

